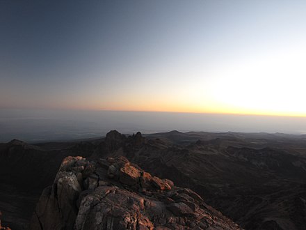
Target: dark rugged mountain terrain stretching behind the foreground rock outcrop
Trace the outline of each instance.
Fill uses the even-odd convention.
[[[124,156],[169,178],[244,229],[305,229],[306,136],[280,133],[163,132],[29,145],[0,144],[3,226],[29,227],[42,190],[67,156],[93,162]]]

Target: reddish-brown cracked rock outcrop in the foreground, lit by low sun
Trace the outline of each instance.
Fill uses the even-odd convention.
[[[122,156],[63,160],[40,197],[31,229],[240,229],[192,190]]]

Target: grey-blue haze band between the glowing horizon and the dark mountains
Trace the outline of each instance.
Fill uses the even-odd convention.
[[[168,132],[284,132],[306,134],[306,118],[168,112],[56,111],[0,109],[0,141],[38,142],[102,137],[122,133]]]

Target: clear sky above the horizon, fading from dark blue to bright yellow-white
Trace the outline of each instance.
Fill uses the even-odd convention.
[[[306,116],[306,1],[0,1],[0,108]]]

